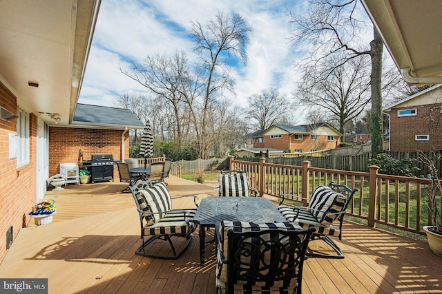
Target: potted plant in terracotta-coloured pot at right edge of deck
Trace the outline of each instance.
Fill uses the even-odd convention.
[[[429,168],[430,187],[428,187],[427,207],[430,211],[431,223],[423,227],[423,231],[427,234],[428,245],[432,251],[442,256],[442,216],[439,210],[439,204],[442,204],[442,185],[439,178],[438,170],[434,165],[435,160],[441,160],[441,154],[432,154],[436,159],[431,159],[423,153],[419,154],[419,160],[425,163]]]

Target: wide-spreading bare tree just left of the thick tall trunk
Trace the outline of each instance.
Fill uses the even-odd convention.
[[[345,124],[357,118],[370,101],[369,79],[366,78],[369,63],[363,56],[358,56],[332,72],[320,72],[327,72],[327,69],[305,67],[297,91],[298,98],[304,105],[317,106],[333,114],[338,121],[339,132],[345,134]]]

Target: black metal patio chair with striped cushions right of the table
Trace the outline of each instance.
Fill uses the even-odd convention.
[[[344,258],[343,251],[333,242],[330,236],[338,237],[342,240],[342,229],[345,212],[348,204],[352,201],[354,193],[358,189],[350,189],[345,185],[330,182],[329,187],[319,186],[315,189],[309,199],[307,207],[287,207],[282,205],[285,200],[283,194],[278,210],[289,222],[298,222],[304,229],[316,228],[316,233],[311,236],[311,240],[322,240],[336,254],[323,253],[314,249],[307,250],[307,255],[316,258]],[[304,198],[300,198],[304,199]],[[338,225],[332,224],[338,222]]]

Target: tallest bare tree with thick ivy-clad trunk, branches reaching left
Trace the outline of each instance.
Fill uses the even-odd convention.
[[[356,0],[309,0],[307,17],[296,16],[290,12],[293,23],[297,26],[291,41],[305,43],[314,47],[308,57],[309,63],[321,63],[328,56],[336,53],[345,58],[334,59],[324,74],[331,74],[341,65],[361,55],[371,58],[371,101],[372,101],[372,156],[383,151],[382,129],[382,60],[383,41],[374,29],[374,38],[363,46],[360,36],[366,35],[366,26],[354,16],[357,10]]]

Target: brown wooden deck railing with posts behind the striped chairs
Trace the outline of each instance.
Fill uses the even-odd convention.
[[[378,174],[375,165],[369,167],[369,172],[358,172],[310,167],[307,160],[303,166],[292,166],[266,163],[265,158],[247,162],[231,156],[229,163],[230,169],[247,171],[260,195],[291,194],[289,200],[300,201],[299,196],[309,198],[318,185],[333,181],[358,189],[347,215],[367,220],[369,227],[385,224],[424,234],[421,227],[431,223],[427,200],[432,182],[426,178]]]

